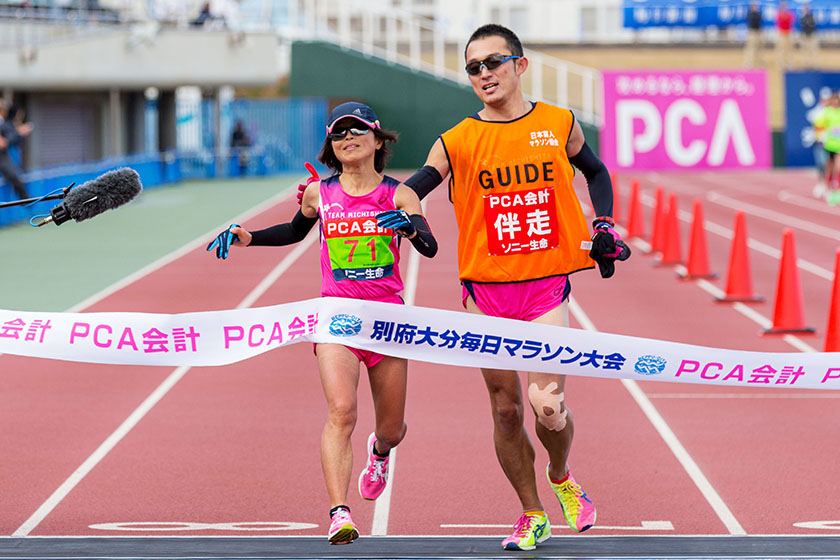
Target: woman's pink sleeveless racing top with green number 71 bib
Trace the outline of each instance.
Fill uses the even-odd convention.
[[[321,180],[321,295],[403,303],[400,248],[376,215],[394,210],[399,181],[383,177],[362,196],[344,192],[338,175]]]

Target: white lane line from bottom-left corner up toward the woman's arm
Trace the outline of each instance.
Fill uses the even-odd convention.
[[[292,250],[280,263],[268,274],[266,278],[272,277],[275,280],[283,272],[285,272],[318,238],[317,231],[313,230],[309,233],[294,250]],[[250,306],[256,299],[259,298],[270,286],[265,280],[260,282],[242,302],[236,306],[236,309],[242,309]],[[114,432],[103,441],[99,447],[50,495],[47,500],[38,507],[35,512],[29,516],[29,519],[12,533],[13,537],[25,537],[43,521],[58,504],[98,465],[102,459],[130,432],[144,416],[154,407],[160,400],[175,386],[178,381],[191,369],[190,366],[181,366],[176,368],[169,376],[163,380],[163,383],[152,391],[146,399],[126,418]]]

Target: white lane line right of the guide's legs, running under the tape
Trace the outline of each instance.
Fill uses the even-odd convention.
[[[575,316],[575,319],[577,319],[584,329],[597,332],[594,323],[592,323],[586,313],[584,313],[580,305],[573,300],[570,301],[569,311]],[[647,416],[648,420],[659,433],[660,437],[665,441],[665,444],[671,450],[671,453],[674,454],[683,466],[683,469],[685,469],[695,486],[697,486],[697,489],[700,490],[700,493],[712,507],[712,510],[721,522],[723,522],[727,531],[729,531],[729,534],[746,535],[747,533],[744,531],[744,528],[741,527],[741,524],[738,523],[737,519],[735,519],[735,516],[729,510],[726,503],[724,503],[723,499],[718,495],[717,491],[715,491],[714,487],[703,474],[703,471],[700,470],[700,467],[697,466],[697,463],[694,462],[694,459],[691,458],[691,455],[689,455],[688,451],[686,451],[685,447],[683,447],[682,443],[680,443],[679,439],[677,439],[677,436],[668,426],[668,423],[665,422],[665,419],[662,418],[659,411],[656,410],[656,407],[653,406],[647,396],[645,396],[644,391],[642,391],[639,385],[632,379],[622,379],[621,383],[636,401],[636,404],[639,405],[639,408],[642,409],[642,412],[645,413],[645,416]]]

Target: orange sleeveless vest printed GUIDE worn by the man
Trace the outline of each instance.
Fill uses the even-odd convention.
[[[573,124],[568,109],[538,102],[514,121],[470,117],[441,135],[461,280],[518,282],[594,266],[566,154]]]

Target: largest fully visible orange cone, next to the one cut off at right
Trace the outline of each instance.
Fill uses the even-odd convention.
[[[814,329],[805,326],[805,316],[802,313],[802,290],[799,288],[796,244],[793,241],[793,230],[790,228],[785,228],[782,233],[782,259],[779,261],[779,282],[776,286],[773,326],[764,329],[764,334],[787,333],[814,333]]]

